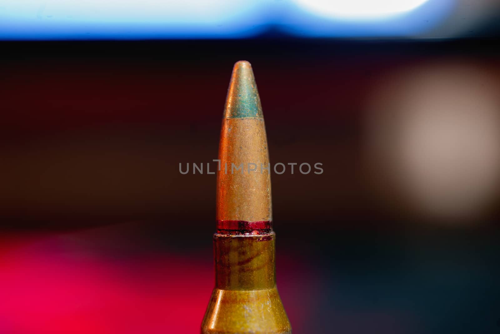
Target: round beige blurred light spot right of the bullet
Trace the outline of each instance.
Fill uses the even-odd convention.
[[[379,83],[368,147],[378,176],[417,212],[471,219],[500,190],[500,82],[467,63],[434,64]]]

